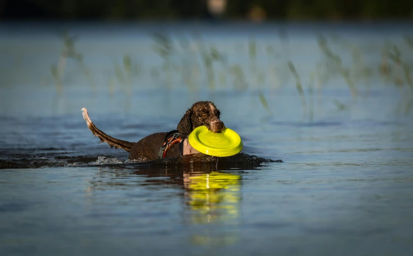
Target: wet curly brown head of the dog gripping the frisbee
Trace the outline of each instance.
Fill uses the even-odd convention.
[[[183,137],[187,137],[196,127],[205,125],[213,133],[220,133],[225,129],[224,122],[219,119],[220,112],[214,103],[200,101],[194,103],[187,110],[178,123],[178,131]]]

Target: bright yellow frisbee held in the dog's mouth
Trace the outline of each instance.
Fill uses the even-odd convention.
[[[202,125],[192,131],[188,141],[199,152],[213,156],[234,155],[243,148],[240,136],[229,128],[222,133],[213,133]]]

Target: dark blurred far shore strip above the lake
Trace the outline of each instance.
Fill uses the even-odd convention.
[[[412,19],[411,0],[3,0],[2,19]]]

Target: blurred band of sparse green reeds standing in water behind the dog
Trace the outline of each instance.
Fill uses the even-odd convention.
[[[65,75],[66,61],[77,63],[82,75],[95,90],[96,85],[83,62],[83,54],[76,50],[76,37],[68,35],[66,33],[63,37],[63,48],[57,64],[50,69],[56,90],[58,94],[63,92],[62,78]],[[368,95],[370,83],[381,79],[384,84],[395,86],[400,91],[399,112],[407,115],[413,108],[413,62],[410,57],[413,39],[409,35],[404,35],[403,41],[398,45],[388,40],[374,48],[361,48],[360,45],[338,35],[320,34],[315,39],[321,58],[314,60],[309,74],[300,73],[296,69],[291,59],[291,52],[296,49],[290,47],[284,30],[279,31],[278,46],[275,42],[256,41],[254,37],[250,37],[238,47],[235,44],[237,56],[246,57],[245,60],[241,58],[236,61],[228,60],[225,50],[213,42],[203,40],[198,33],[184,36],[180,33],[172,35],[154,32],[149,36],[152,40],[152,51],[161,61],[157,65],[147,66],[128,53],[122,58],[119,56],[119,59],[112,59],[113,74],[108,77],[110,94],[119,86],[129,99],[133,86],[139,86],[139,83],[134,83],[133,80],[138,81],[146,70],[150,71],[154,84],[159,84],[164,89],[173,89],[179,84],[186,86],[190,92],[196,92],[203,86],[210,91],[229,89],[235,93],[255,90],[263,109],[273,115],[265,93],[289,84],[288,79],[292,78],[304,116],[312,121],[314,105],[321,101],[320,92],[323,87],[334,86],[337,79],[344,81],[352,102],[343,103],[334,99],[333,103],[338,111],[345,111],[350,104],[363,100]],[[366,61],[374,59],[374,55],[381,59]],[[265,65],[262,65],[263,62]],[[259,63],[261,65],[258,65]]]

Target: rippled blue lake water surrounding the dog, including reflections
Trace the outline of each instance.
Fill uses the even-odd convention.
[[[1,24],[0,254],[411,255],[411,35],[407,23]],[[128,163],[80,111],[137,141],[198,100],[243,152],[283,163]]]

